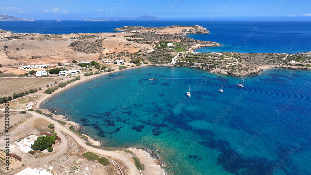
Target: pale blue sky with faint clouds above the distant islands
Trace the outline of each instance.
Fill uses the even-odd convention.
[[[308,20],[310,0],[1,0],[0,13],[28,19],[138,17],[162,20]]]

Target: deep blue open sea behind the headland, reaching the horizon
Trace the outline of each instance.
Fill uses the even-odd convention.
[[[222,44],[197,52],[299,53],[311,51],[311,21],[0,21],[0,29],[42,34],[114,32],[123,26],[200,25],[210,34],[188,37]]]

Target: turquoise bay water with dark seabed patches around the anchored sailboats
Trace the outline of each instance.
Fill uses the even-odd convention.
[[[310,72],[265,70],[245,77],[245,88],[240,80],[141,67],[77,85],[41,108],[70,116],[103,146],[158,150],[169,174],[311,174]]]

